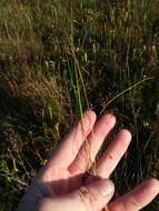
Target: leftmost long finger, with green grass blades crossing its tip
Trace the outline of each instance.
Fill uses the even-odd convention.
[[[73,127],[70,133],[66,135],[53,153],[53,157],[50,158],[47,165],[41,170],[40,175],[43,175],[43,173],[48,171],[51,174],[51,170],[53,171],[54,167],[67,169],[78,154],[87,135],[92,130],[95,122],[96,113],[91,110],[85,112],[82,119]]]

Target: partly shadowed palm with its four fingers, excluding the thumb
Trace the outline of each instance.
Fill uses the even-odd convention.
[[[47,210],[48,207],[41,209],[40,204],[43,199],[51,200],[54,197],[68,194],[92,182],[95,179],[86,172],[91,168],[91,163],[96,160],[101,144],[115,123],[116,119],[111,114],[106,114],[96,122],[95,112],[86,112],[82,121],[64,138],[53,158],[49,160],[28,189],[21,201],[20,211],[50,211]],[[106,153],[97,161],[97,178],[109,179],[130,140],[129,131],[120,131]],[[106,204],[106,210],[137,211],[156,197],[158,189],[158,181],[150,179],[128,194]],[[92,207],[91,210],[96,209]]]

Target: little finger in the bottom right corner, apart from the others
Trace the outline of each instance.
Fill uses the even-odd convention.
[[[109,211],[138,211],[145,208],[159,194],[159,181],[148,179],[128,194],[118,198],[107,208]]]

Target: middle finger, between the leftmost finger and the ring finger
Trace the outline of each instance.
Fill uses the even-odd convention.
[[[115,127],[116,118],[112,114],[102,115],[95,124],[92,132],[87,138],[87,141],[81,147],[77,158],[69,167],[73,174],[86,172],[96,159],[106,137]]]

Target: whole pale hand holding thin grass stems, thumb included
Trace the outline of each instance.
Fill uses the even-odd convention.
[[[97,120],[93,111],[85,112],[38,173],[18,211],[138,211],[150,203],[159,193],[159,181],[153,178],[111,200],[110,175],[130,144],[128,130],[121,130],[98,159],[96,177],[88,173],[115,124],[112,114]]]

